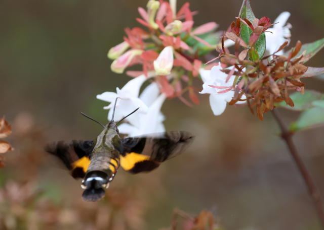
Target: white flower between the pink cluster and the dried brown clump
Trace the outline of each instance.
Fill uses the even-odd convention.
[[[230,67],[232,68],[232,67]],[[234,82],[235,76],[232,76],[228,82],[226,81],[227,74],[220,71],[221,66],[214,66],[211,70],[199,69],[199,74],[203,80],[203,90],[200,93],[209,93],[209,102],[213,110],[214,115],[218,116],[225,111],[227,102],[232,100],[234,91],[230,90],[226,93],[219,93],[226,88],[212,88],[209,85],[220,86],[220,87],[231,87]],[[241,99],[245,99],[242,96]],[[245,103],[245,101],[237,101],[236,103]]]

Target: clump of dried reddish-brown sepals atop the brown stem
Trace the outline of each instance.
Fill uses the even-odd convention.
[[[235,41],[236,44],[247,47],[246,44],[242,45],[241,39],[234,33],[234,24],[232,24],[232,30],[233,32],[226,33],[227,38]],[[256,32],[256,34],[259,35],[262,30],[261,28],[257,30],[258,33]],[[283,49],[287,44],[288,42],[282,44],[276,52]],[[235,45],[235,55],[226,53],[224,47],[218,47],[216,50],[220,52],[220,62],[233,65],[236,70],[234,75],[239,76],[239,80],[235,82],[237,84],[235,95],[229,104],[235,104],[245,94],[249,108],[254,114],[253,107],[256,106],[257,115],[261,121],[263,121],[263,113],[275,108],[275,102],[285,101],[289,106],[294,107],[294,102],[289,97],[289,91],[294,90],[304,93],[305,83],[302,83],[300,79],[308,67],[304,66],[303,62],[308,60],[309,55],[311,55],[304,55],[304,52],[296,57],[301,46],[301,42],[298,41],[288,57],[276,55],[275,52],[272,55],[264,56],[260,60],[258,57],[251,58],[252,55],[258,56],[258,54],[250,46],[239,53],[239,46]],[[248,52],[250,60],[246,59]],[[269,57],[272,57],[271,61],[268,60]],[[243,71],[243,67],[245,71]],[[228,72],[229,75],[233,74],[229,71],[224,72]]]

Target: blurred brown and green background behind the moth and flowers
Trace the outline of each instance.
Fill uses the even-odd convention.
[[[241,0],[191,0],[195,26],[215,21],[226,30]],[[292,44],[324,37],[322,0],[255,1],[257,18],[292,15]],[[185,1],[178,1],[178,9]],[[0,1],[0,116],[13,127],[6,140],[15,151],[0,169],[1,229],[160,229],[179,208],[197,215],[212,210],[222,229],[320,229],[305,184],[271,113],[261,122],[247,107],[228,106],[215,117],[208,95],[187,107],[178,99],[162,108],[166,129],[196,139],[182,155],[150,174],[119,170],[105,200],[85,203],[71,178],[44,143],[93,140],[107,123],[107,103],[97,94],[123,87],[130,77],[110,71],[108,50],[125,27],[139,26],[146,0]],[[307,63],[323,67],[321,50]],[[134,67],[133,69],[136,69]],[[324,92],[324,81],[305,79]],[[198,86],[198,81],[197,85]],[[201,87],[201,86],[200,86]],[[287,123],[298,113],[280,110]],[[297,133],[294,141],[324,197],[324,128]]]

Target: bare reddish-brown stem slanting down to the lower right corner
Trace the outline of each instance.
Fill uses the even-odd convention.
[[[309,172],[307,171],[307,168],[306,168],[302,158],[300,157],[300,155],[297,152],[296,146],[292,139],[292,132],[290,132],[288,130],[286,123],[284,122],[279,111],[276,108],[272,109],[271,112],[273,114],[273,117],[276,119],[277,123],[280,126],[281,138],[284,139],[284,141],[286,141],[286,144],[290,150],[290,154],[293,157],[293,159],[295,160],[295,163],[297,164],[297,167],[298,167],[301,175],[304,178],[304,181],[308,188],[309,195],[311,196],[311,198],[314,202],[314,205],[315,205],[315,208],[317,211],[317,215],[319,217],[322,227],[324,228],[324,209],[322,206],[319,190],[317,189],[312,177],[310,176]]]

